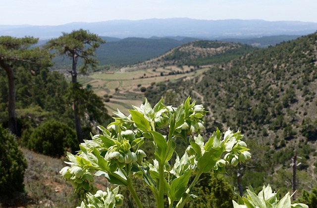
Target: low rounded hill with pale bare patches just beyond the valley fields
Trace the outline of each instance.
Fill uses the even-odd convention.
[[[193,41],[175,47],[150,60],[122,67],[121,71],[135,71],[166,65],[203,65],[231,60],[254,50],[253,47],[222,41]]]

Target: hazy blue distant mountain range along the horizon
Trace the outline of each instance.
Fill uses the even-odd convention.
[[[150,38],[182,36],[200,39],[261,37],[273,35],[307,35],[317,30],[317,23],[264,20],[197,20],[189,18],[111,20],[75,22],[58,26],[0,25],[0,36],[33,36],[41,40],[55,38],[61,32],[85,29],[100,36],[115,38]]]

